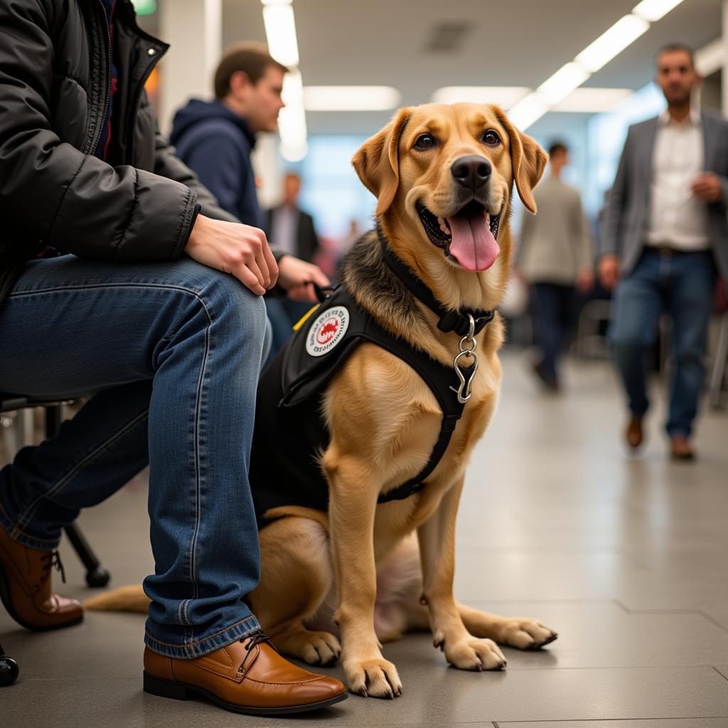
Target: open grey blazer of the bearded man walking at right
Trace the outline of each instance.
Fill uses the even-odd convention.
[[[705,170],[721,178],[723,196],[708,205],[708,227],[719,274],[728,279],[728,120],[703,110]],[[598,256],[620,257],[628,274],[644,248],[657,117],[630,127],[598,241]]]

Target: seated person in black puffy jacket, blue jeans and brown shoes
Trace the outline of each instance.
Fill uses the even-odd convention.
[[[166,50],[129,0],[0,3],[0,383],[97,392],[0,470],[0,598],[31,630],[80,622],[82,605],[52,590],[63,528],[149,464],[144,690],[306,710],[344,686],[280,657],[245,597],[260,571],[260,297],[308,279],[159,134],[143,79]],[[98,649],[114,662],[103,629]]]

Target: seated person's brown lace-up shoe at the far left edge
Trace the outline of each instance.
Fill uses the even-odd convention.
[[[84,618],[79,601],[54,594],[50,569],[63,574],[58,551],[40,551],[10,538],[0,527],[0,598],[10,616],[29,630],[55,630]]]

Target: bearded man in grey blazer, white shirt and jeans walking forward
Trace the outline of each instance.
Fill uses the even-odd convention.
[[[690,460],[716,264],[728,277],[728,122],[697,105],[702,79],[692,50],[662,47],[656,66],[668,108],[630,127],[599,241],[598,273],[605,288],[616,287],[609,336],[630,410],[625,440],[630,448],[643,441],[646,352],[667,312],[674,368],[666,430],[671,456]]]

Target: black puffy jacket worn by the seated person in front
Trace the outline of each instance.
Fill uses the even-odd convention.
[[[167,44],[117,0],[108,162],[92,156],[111,90],[101,0],[0,1],[0,302],[44,246],[84,258],[172,260],[197,205],[232,220],[174,156],[144,83]]]

